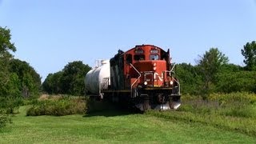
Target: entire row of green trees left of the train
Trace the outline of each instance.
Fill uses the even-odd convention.
[[[84,95],[84,77],[90,66],[70,62],[42,83],[40,74],[28,62],[14,58],[16,47],[10,40],[10,29],[0,26],[0,127],[26,99],[38,98],[42,93]]]

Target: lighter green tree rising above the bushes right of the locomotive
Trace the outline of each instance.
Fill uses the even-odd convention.
[[[216,74],[218,74],[220,68],[226,64],[229,60],[218,50],[218,48],[210,48],[205,54],[199,56],[198,67],[202,73],[203,88],[202,94],[209,94],[210,90],[213,90],[214,82],[216,82]]]

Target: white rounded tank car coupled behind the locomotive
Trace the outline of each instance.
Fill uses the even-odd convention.
[[[100,60],[97,63],[98,66],[86,74],[86,93],[90,92],[102,96],[102,88],[107,88],[107,85],[102,86],[103,78],[110,78],[110,60]],[[110,85],[110,83],[108,84]]]

